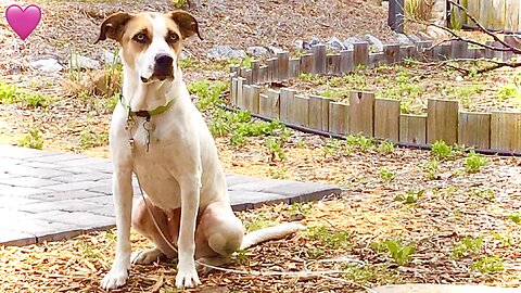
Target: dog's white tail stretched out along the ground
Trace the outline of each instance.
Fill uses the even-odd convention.
[[[306,227],[297,222],[284,222],[274,227],[252,231],[245,234],[242,239],[241,250],[250,249],[268,240],[281,239],[305,228]]]

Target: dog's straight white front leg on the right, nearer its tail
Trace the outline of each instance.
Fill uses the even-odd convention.
[[[181,189],[181,220],[178,240],[177,288],[193,288],[201,284],[195,270],[195,224],[199,212],[201,176],[187,176],[179,180]]]

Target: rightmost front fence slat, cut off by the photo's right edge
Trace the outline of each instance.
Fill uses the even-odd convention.
[[[492,112],[491,148],[493,150],[521,150],[521,112]]]

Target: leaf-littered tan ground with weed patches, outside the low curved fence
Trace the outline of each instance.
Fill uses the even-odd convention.
[[[186,68],[188,81],[226,77],[226,66],[216,68],[205,59],[206,50],[216,43],[243,49],[253,44],[291,48],[296,38],[334,35],[342,39],[371,34],[385,39],[391,35],[385,27],[385,11],[366,1],[240,1],[243,5],[234,1],[192,2],[190,11],[201,18],[205,40],[188,42],[192,61],[198,64]],[[17,143],[37,127],[42,132],[43,149],[107,157],[103,140],[110,120],[107,99],[63,94],[67,74],[41,76],[28,71],[26,61],[41,54],[66,61],[71,51],[99,58],[100,48],[114,48],[110,42],[92,44],[105,15],[118,10],[170,11],[171,3],[38,3],[46,15],[43,24],[24,46],[1,20],[0,42],[5,49],[0,52],[0,71],[4,81],[55,94],[58,102],[36,109],[0,104],[0,143]],[[4,9],[0,4],[0,10]],[[101,138],[101,142],[85,143],[89,138]],[[231,146],[229,138],[216,139],[225,169],[334,183],[343,187],[344,193],[317,203],[240,213],[247,229],[289,220],[301,220],[309,229],[242,252],[229,268],[298,271],[308,265],[313,270],[335,268],[345,273],[333,275],[340,279],[333,281],[212,272],[203,275],[202,288],[190,291],[361,291],[345,282],[369,286],[404,282],[521,285],[519,158],[488,156],[486,166],[469,174],[468,158],[461,154],[455,153],[454,158],[436,165],[433,154],[425,151],[382,150],[359,142],[347,145],[293,132],[283,146],[285,160],[274,162],[265,141],[264,137],[249,138],[245,144]],[[386,240],[399,246],[394,256],[385,250]],[[142,249],[150,243],[134,233],[132,245]],[[407,246],[416,252],[405,257]],[[0,291],[101,292],[99,282],[110,269],[113,252],[114,230],[63,242],[0,247],[0,278],[5,280]],[[314,263],[339,257],[359,259],[365,265]],[[173,289],[175,275],[175,262],[134,266],[128,285],[118,292],[177,292]]]

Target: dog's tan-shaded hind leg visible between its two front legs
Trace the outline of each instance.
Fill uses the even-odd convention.
[[[154,206],[150,201],[147,201],[147,203],[163,234],[175,245],[177,243],[177,231],[179,229],[178,220],[169,219],[163,209]],[[177,213],[179,213],[179,211],[177,211]],[[174,214],[176,214],[176,211]],[[176,215],[174,215],[174,218],[176,218]],[[177,256],[177,252],[170,247],[157,230],[142,199],[137,200],[134,206],[132,227],[155,244],[155,247],[152,250],[134,253],[131,256],[132,264],[148,265],[161,258],[174,258]]]

